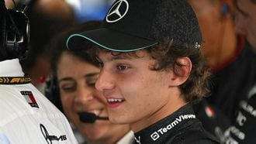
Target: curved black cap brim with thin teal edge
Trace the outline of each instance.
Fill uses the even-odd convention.
[[[95,43],[107,50],[118,52],[142,50],[157,44],[157,42],[148,39],[102,28],[73,34],[68,37],[66,46],[69,50],[82,50],[86,48],[86,44],[88,43]]]

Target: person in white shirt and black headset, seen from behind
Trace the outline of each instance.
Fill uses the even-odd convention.
[[[67,118],[31,84],[26,58],[29,20],[0,0],[0,143],[78,143]]]

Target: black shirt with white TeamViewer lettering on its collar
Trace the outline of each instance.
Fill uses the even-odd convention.
[[[192,105],[185,105],[173,114],[135,133],[134,143],[220,143],[202,128],[202,123],[195,118]]]

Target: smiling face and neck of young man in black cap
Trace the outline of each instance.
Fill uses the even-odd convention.
[[[182,100],[172,70],[150,70],[155,63],[147,52],[98,54],[102,63],[96,88],[108,101],[109,119],[113,123],[130,123],[133,132],[159,121],[176,111]],[[177,78],[178,81],[178,78]]]

